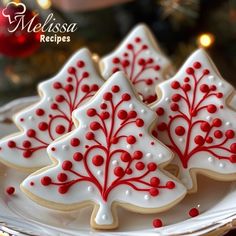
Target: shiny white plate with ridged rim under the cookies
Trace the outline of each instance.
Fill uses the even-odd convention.
[[[9,122],[19,107],[35,102],[31,97],[14,101],[0,108],[0,137],[16,131]],[[6,122],[7,121],[7,122]],[[162,214],[142,215],[119,209],[120,227],[116,231],[94,231],[89,226],[91,208],[70,213],[49,210],[38,206],[20,189],[19,184],[26,174],[0,164],[0,231],[21,235],[203,235],[216,230],[225,232],[236,220],[236,183],[213,181],[207,177],[198,178],[198,193],[187,196],[179,205]],[[16,188],[16,194],[8,196],[5,189]],[[188,211],[197,207],[200,215],[189,218]],[[154,229],[152,220],[162,219],[164,227]],[[218,231],[219,232],[219,231]]]

